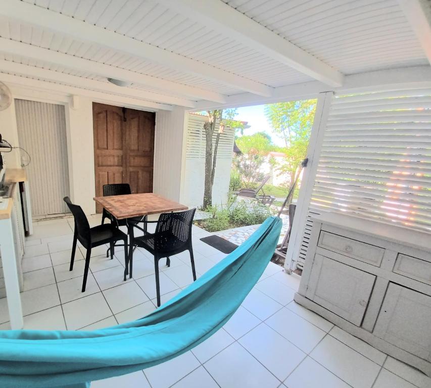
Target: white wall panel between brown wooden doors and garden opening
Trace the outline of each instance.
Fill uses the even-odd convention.
[[[182,200],[184,118],[181,107],[156,113],[153,192],[177,202]]]

